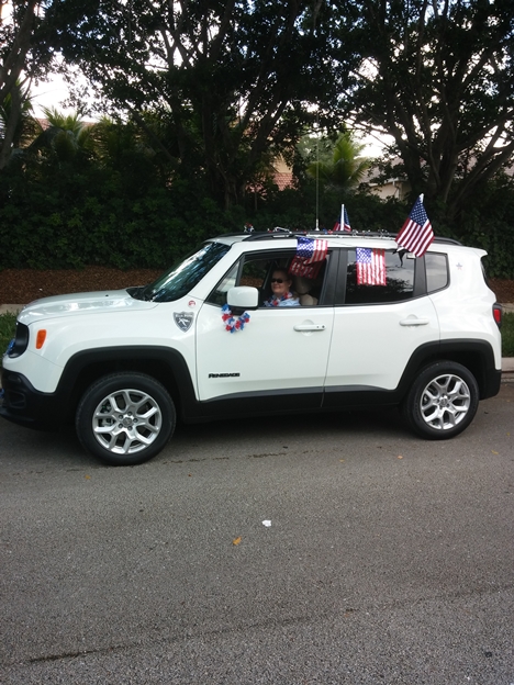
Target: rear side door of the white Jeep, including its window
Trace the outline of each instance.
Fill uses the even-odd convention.
[[[436,310],[423,294],[423,260],[383,250],[382,284],[359,282],[355,249],[340,262],[325,406],[344,401],[338,393],[394,390],[413,352],[439,340]]]

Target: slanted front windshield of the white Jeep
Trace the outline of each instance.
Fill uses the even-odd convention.
[[[179,300],[187,295],[230,249],[231,246],[223,243],[205,243],[153,283],[131,291],[131,295],[136,300],[154,302]]]

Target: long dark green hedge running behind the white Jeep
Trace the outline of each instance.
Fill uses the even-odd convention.
[[[222,210],[201,177],[169,178],[150,165],[123,173],[88,159],[29,159],[0,172],[0,269],[165,268],[199,242],[241,231],[247,221],[257,231],[315,227],[312,180],[284,191],[270,186],[264,198],[248,193],[245,202]],[[367,192],[322,189],[322,228],[333,227],[342,202],[358,231],[395,233],[410,211],[410,203],[384,202]],[[458,224],[434,216],[433,225],[440,235],[485,249],[490,277],[514,278],[513,207],[512,183],[495,180]]]

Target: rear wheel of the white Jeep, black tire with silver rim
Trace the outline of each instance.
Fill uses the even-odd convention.
[[[479,403],[474,375],[462,364],[439,361],[414,381],[402,406],[411,428],[431,440],[446,440],[473,420]]]

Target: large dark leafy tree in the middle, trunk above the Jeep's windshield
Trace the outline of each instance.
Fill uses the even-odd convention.
[[[147,108],[170,124],[155,139],[170,162],[202,169],[225,206],[241,202],[266,153],[292,150],[313,119],[338,122],[335,4],[317,0],[68,1],[56,5],[66,58],[119,111],[145,125]],[[340,81],[340,79],[339,79]]]

